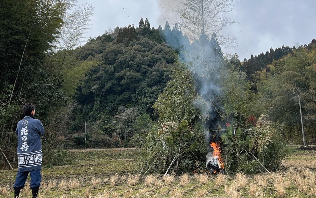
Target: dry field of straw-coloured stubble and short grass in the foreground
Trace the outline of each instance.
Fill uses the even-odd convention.
[[[39,197],[57,198],[270,198],[316,197],[316,151],[290,153],[287,170],[258,175],[139,176],[135,149],[73,150],[72,165],[44,167]],[[0,198],[13,197],[16,170],[0,171]],[[29,189],[21,198],[32,197]]]

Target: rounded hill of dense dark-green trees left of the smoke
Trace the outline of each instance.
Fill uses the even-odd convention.
[[[165,31],[172,37],[183,37],[177,26],[171,30],[166,23],[164,29],[155,29],[150,28],[148,19],[141,19],[137,28],[115,28],[75,50],[80,60],[102,63],[88,71],[74,96],[79,107],[70,131],[79,132],[78,139],[85,121],[93,123],[89,130],[112,137],[113,115],[120,107],[124,112],[137,108],[137,113],[131,111],[131,120],[138,114],[147,121],[155,119],[152,105],[170,79],[170,68],[178,56],[165,42]]]

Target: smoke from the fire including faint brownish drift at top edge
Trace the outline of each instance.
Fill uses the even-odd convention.
[[[177,3],[174,3],[177,2]],[[177,14],[170,10],[179,6],[180,1],[159,0],[159,3],[164,8],[161,10],[161,17],[158,22],[164,24],[168,21],[170,24],[177,21]],[[171,26],[171,25],[170,25]],[[163,26],[164,27],[164,26]],[[172,28],[172,26],[171,26]],[[221,135],[220,131],[220,112],[222,104],[218,102],[218,97],[221,96],[221,87],[219,80],[224,75],[222,68],[224,60],[219,57],[219,48],[215,52],[216,41],[211,40],[206,35],[201,35],[199,40],[190,40],[187,37],[179,37],[179,44],[175,45],[174,37],[169,32],[164,31],[166,41],[173,48],[179,50],[179,59],[188,66],[188,69],[193,73],[193,77],[197,84],[197,93],[201,96],[193,105],[201,111],[204,117],[204,133],[205,141],[208,144],[209,153],[206,156],[206,165],[211,163],[214,167],[218,167],[218,157],[213,156],[213,149],[210,147],[210,141],[214,141],[214,135],[217,140]],[[209,131],[217,131],[210,133]],[[216,140],[215,140],[216,141]]]

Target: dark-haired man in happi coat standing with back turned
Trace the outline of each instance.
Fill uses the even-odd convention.
[[[19,198],[28,173],[31,176],[33,198],[37,198],[42,168],[42,143],[40,137],[44,135],[43,124],[34,118],[35,108],[32,103],[23,106],[25,117],[19,121],[15,133],[18,135],[18,173],[14,184],[14,197]]]

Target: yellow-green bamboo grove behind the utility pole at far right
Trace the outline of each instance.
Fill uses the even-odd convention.
[[[283,136],[302,143],[299,98],[307,143],[315,143],[316,40],[267,65],[256,73],[262,102],[274,121],[284,122]]]

